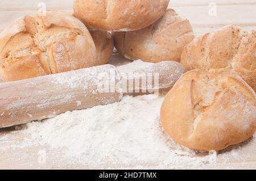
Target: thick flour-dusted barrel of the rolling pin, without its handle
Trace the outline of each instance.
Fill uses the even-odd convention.
[[[98,74],[112,71],[116,71],[114,66],[104,65],[1,83],[0,127],[118,102],[118,92],[98,92]]]

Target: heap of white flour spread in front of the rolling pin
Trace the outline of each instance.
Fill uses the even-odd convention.
[[[148,64],[135,61],[119,70],[138,69],[140,65]],[[31,138],[19,146],[49,146],[48,152],[64,154],[61,157],[69,165],[104,169],[175,169],[216,162],[216,153],[199,157],[164,133],[159,117],[163,99],[164,95],[125,96],[119,103],[25,124],[16,127],[16,132]]]

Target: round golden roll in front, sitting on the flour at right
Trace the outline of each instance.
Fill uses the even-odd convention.
[[[164,99],[161,121],[181,145],[196,150],[222,150],[253,136],[256,95],[236,73],[192,70]]]

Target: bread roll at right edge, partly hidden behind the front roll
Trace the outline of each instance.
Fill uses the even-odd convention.
[[[226,26],[188,44],[181,57],[185,69],[232,69],[256,91],[256,31]]]

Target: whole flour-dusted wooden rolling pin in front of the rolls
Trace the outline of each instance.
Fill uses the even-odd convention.
[[[179,63],[168,61],[135,73],[134,77],[131,76],[126,81],[140,79],[137,77],[138,73],[159,73],[159,89],[164,89],[173,86],[184,69]],[[67,111],[119,102],[124,93],[122,88],[117,89],[123,87],[125,78],[122,76],[117,75],[117,69],[113,65],[102,65],[0,83],[0,128],[52,118]],[[102,91],[102,87],[108,85],[108,82],[110,91]],[[131,88],[132,84],[127,85]]]

